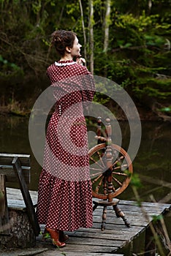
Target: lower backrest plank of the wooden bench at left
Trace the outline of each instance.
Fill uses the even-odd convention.
[[[21,168],[26,184],[29,184],[31,168],[26,166],[21,166]],[[18,177],[16,176],[12,165],[0,165],[0,174],[4,174],[6,176],[6,182],[18,182]]]

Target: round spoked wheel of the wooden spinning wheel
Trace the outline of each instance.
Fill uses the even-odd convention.
[[[132,161],[126,151],[111,144],[111,162],[107,159],[106,143],[98,144],[88,152],[92,181],[92,194],[99,199],[116,197],[128,187],[132,178]]]

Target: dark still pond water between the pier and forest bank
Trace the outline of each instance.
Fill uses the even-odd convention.
[[[120,122],[123,144],[129,146],[129,124]],[[171,124],[143,121],[140,148],[133,162],[134,173],[140,178],[142,187],[138,189],[144,201],[154,200],[171,203]],[[91,128],[88,128],[91,129]],[[91,145],[94,141],[91,141]],[[93,146],[93,145],[92,145]],[[28,118],[0,116],[0,152],[31,154],[31,184],[29,189],[37,190],[41,166],[31,152],[28,140]],[[134,200],[131,185],[119,195],[120,199]],[[170,219],[170,218],[169,218]],[[167,218],[167,228],[171,233],[171,223]]]

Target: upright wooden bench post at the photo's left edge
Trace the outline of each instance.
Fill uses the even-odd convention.
[[[9,215],[4,174],[0,174],[0,206],[0,233],[9,234]]]

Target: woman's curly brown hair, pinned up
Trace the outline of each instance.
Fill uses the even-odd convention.
[[[66,47],[73,47],[75,37],[77,34],[72,31],[56,30],[52,34],[51,45],[57,50],[57,52],[64,56]]]

